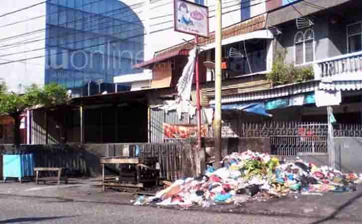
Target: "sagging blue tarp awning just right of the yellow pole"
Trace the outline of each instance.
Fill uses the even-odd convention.
[[[212,105],[211,107],[215,108],[215,105]],[[222,105],[221,110],[223,110],[223,111],[245,111],[245,112],[251,112],[251,113],[255,113],[255,114],[259,114],[259,115],[263,115],[263,116],[272,117],[272,114],[266,112],[264,103],[227,104],[227,105]]]

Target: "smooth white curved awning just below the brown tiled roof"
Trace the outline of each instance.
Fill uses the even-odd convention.
[[[269,29],[258,30],[250,33],[244,33],[238,36],[233,36],[227,39],[222,40],[222,45],[228,45],[232,43],[237,43],[243,40],[251,40],[251,39],[273,39],[274,35],[271,33]],[[206,46],[201,47],[203,50],[209,50],[215,48],[215,43],[207,44]]]

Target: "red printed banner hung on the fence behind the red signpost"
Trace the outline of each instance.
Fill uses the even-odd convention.
[[[201,136],[207,136],[207,124],[201,125]],[[196,124],[169,124],[164,123],[164,139],[186,139],[197,137]]]

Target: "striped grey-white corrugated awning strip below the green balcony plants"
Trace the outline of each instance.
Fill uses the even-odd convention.
[[[222,104],[247,102],[255,100],[265,100],[277,97],[285,97],[301,93],[308,93],[317,90],[319,81],[309,81],[297,84],[288,84],[283,86],[274,87],[270,90],[257,91],[252,93],[237,94],[231,96],[223,96],[221,99]],[[210,104],[214,104],[215,100],[211,100]]]

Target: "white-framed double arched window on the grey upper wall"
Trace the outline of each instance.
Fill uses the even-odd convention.
[[[299,31],[294,37],[295,64],[300,65],[314,61],[314,32],[307,29]]]

